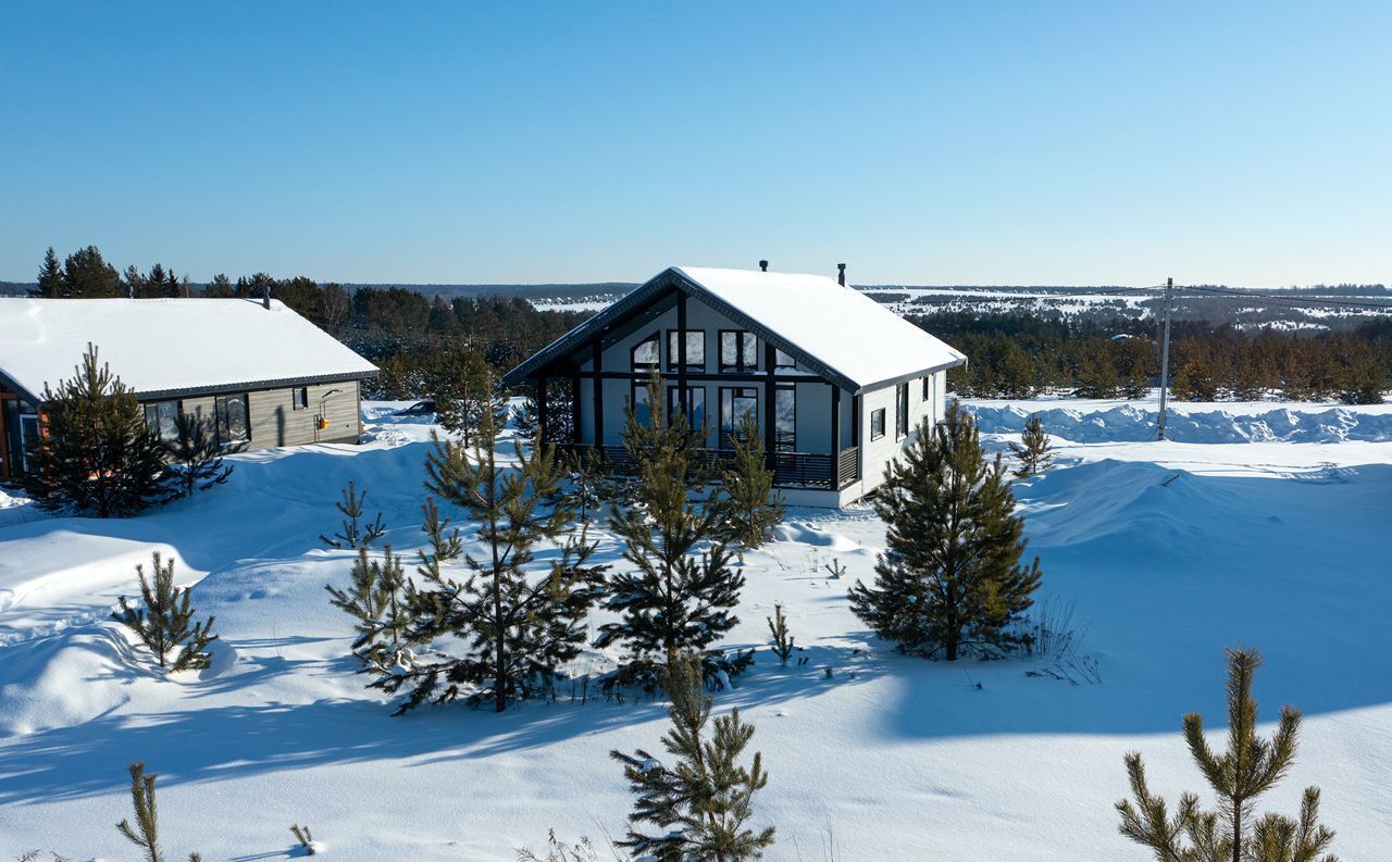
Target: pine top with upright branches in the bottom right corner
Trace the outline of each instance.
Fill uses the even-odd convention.
[[[1251,680],[1260,665],[1256,651],[1228,651],[1226,752],[1208,747],[1197,713],[1185,716],[1185,742],[1218,799],[1218,811],[1203,811],[1199,797],[1186,792],[1171,816],[1165,799],[1150,791],[1140,752],[1126,755],[1136,801],[1116,804],[1121,833],[1148,847],[1157,862],[1336,862],[1332,855],[1321,856],[1334,831],[1320,823],[1318,787],[1306,788],[1297,819],[1275,813],[1254,819],[1257,798],[1289,772],[1300,730],[1300,712],[1283,706],[1275,735],[1257,737]]]

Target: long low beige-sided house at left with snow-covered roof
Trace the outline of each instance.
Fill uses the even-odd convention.
[[[358,384],[377,368],[276,300],[0,299],[0,480],[24,470],[45,385],[70,380],[88,345],[177,435],[180,412],[228,450],[358,442]]]

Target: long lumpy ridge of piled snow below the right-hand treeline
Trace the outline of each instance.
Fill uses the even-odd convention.
[[[1154,410],[1125,405],[1102,412],[1020,405],[987,406],[966,402],[983,434],[1019,434],[1031,414],[1044,430],[1066,441],[1140,442],[1155,439]],[[1276,409],[1264,413],[1231,413],[1224,409],[1171,412],[1165,435],[1183,444],[1392,441],[1392,414],[1335,407],[1321,412]]]

